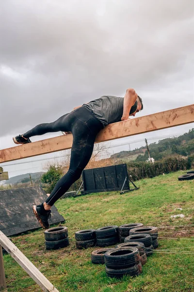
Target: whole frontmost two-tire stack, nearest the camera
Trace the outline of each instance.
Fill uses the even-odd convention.
[[[114,248],[104,255],[106,274],[113,278],[135,276],[142,272],[140,254],[136,247]]]

